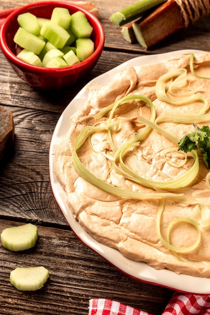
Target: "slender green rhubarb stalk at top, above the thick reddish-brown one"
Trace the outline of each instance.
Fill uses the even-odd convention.
[[[111,22],[116,26],[125,25],[131,21],[138,19],[148,13],[151,8],[154,8],[166,0],[141,0],[125,9],[122,9],[110,17]]]

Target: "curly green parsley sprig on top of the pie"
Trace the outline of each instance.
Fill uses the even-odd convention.
[[[187,134],[178,142],[178,150],[187,153],[200,149],[200,153],[203,154],[203,161],[207,169],[210,169],[210,128],[209,126],[199,128],[196,124],[193,125],[195,131]]]

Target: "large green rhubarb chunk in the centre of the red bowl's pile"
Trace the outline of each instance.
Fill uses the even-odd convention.
[[[65,46],[70,37],[63,27],[51,21],[44,23],[40,30],[40,34],[50,41],[56,48]]]

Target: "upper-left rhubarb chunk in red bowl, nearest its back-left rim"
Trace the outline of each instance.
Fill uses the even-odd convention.
[[[18,24],[27,32],[34,35],[38,35],[40,32],[40,26],[37,21],[37,17],[29,12],[19,14]]]

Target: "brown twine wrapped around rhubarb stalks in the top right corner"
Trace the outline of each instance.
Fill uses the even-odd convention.
[[[180,7],[185,26],[210,14],[210,0],[175,0]]]

